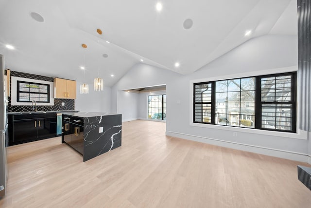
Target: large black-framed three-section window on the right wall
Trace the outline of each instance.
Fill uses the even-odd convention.
[[[193,84],[193,122],[296,132],[296,73]]]

